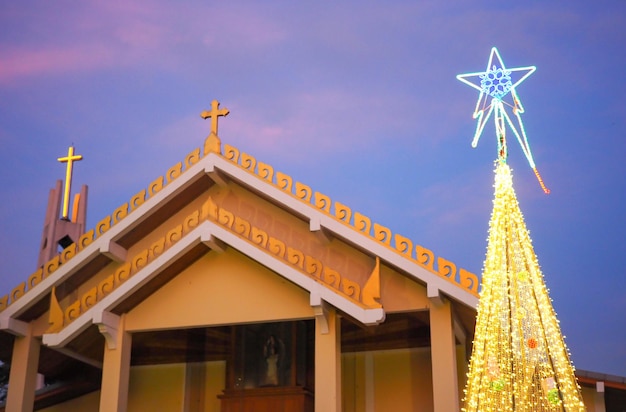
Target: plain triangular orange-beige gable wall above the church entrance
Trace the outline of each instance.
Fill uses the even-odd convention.
[[[303,318],[313,318],[308,292],[227,248],[204,255],[132,309],[126,327],[140,331]]]

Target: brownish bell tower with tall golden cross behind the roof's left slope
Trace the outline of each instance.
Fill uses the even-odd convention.
[[[50,190],[37,267],[41,267],[54,258],[60,250],[76,242],[85,233],[87,223],[86,185],[83,185],[80,193],[74,196],[70,213],[74,162],[82,159],[81,155],[74,154],[74,146],[69,147],[67,156],[57,159],[61,163],[67,163],[65,184],[63,181],[57,180],[55,188]]]

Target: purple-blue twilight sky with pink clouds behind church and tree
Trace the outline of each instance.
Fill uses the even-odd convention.
[[[490,122],[459,73],[537,66],[517,92],[545,195],[509,164],[577,369],[626,376],[626,2],[3,2],[0,296],[36,268],[74,144],[88,228],[209,132],[480,274]],[[457,2],[454,2],[457,3]]]

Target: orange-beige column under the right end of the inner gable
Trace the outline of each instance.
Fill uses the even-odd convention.
[[[315,412],[340,411],[341,322],[328,308],[325,320],[315,318]]]

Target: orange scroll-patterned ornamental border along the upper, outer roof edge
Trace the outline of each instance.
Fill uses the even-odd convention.
[[[357,233],[367,235],[398,255],[417,263],[435,275],[443,277],[472,295],[478,296],[479,281],[474,273],[463,268],[460,268],[457,273],[457,265],[441,256],[437,256],[435,268],[435,254],[432,250],[418,244],[415,244],[415,247],[413,247],[411,239],[397,233],[392,234],[389,228],[376,222],[372,224],[369,217],[359,212],[354,212],[353,214],[350,207],[340,202],[332,201],[329,196],[320,192],[313,192],[311,187],[304,183],[296,181],[294,185],[293,178],[290,175],[278,171],[274,173],[274,168],[271,165],[257,162],[255,157],[245,152],[240,152],[234,146],[224,144],[224,152],[222,152],[221,146],[219,137],[215,133],[211,133],[204,141],[204,150],[202,152],[199,147],[189,152],[183,161],[174,164],[164,175],[159,176],[148,184],[147,188],[140,190],[132,196],[129,202],[122,204],[113,213],[101,219],[93,229],[85,232],[77,242],[72,243],[63,249],[60,254],[44,263],[25,282],[21,282],[9,294],[0,297],[0,313],[210,153],[216,153],[257,178],[271,183],[295,199],[314,206],[317,210],[350,227]],[[334,206],[334,214],[331,214],[331,206]],[[414,251],[415,255],[413,254]]]

